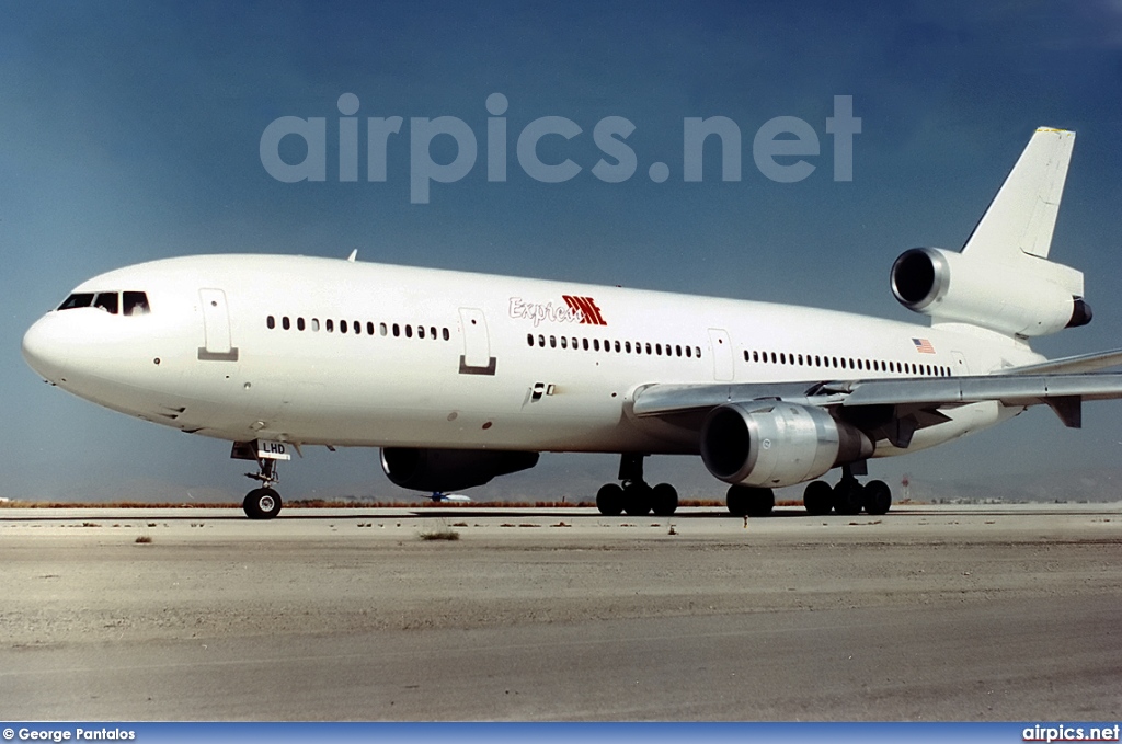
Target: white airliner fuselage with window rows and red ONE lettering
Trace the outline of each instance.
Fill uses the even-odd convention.
[[[628,415],[637,388],[980,375],[1042,359],[968,327],[324,258],[167,259],[74,292],[144,292],[150,312],[48,313],[24,341],[40,375],[231,441],[696,453]],[[909,450],[1020,410],[949,408]]]

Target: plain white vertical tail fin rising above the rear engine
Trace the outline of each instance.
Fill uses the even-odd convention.
[[[963,247],[999,261],[1048,258],[1075,132],[1041,127]]]

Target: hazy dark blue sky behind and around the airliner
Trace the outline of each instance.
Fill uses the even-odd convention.
[[[488,182],[487,109],[508,100],[508,180]],[[405,119],[387,180],[340,182],[337,101]],[[4,424],[0,496],[240,494],[228,446],[129,420],[50,389],[22,362],[28,325],[79,282],[122,265],[200,252],[300,252],[623,284],[910,320],[888,270],[904,249],[958,248],[1037,126],[1078,132],[1052,257],[1086,274],[1095,322],[1038,343],[1061,356],[1122,346],[1122,2],[346,3],[6,2],[0,4],[0,255]],[[833,180],[835,95],[862,132],[852,182]],[[328,177],[282,183],[259,141],[278,117],[328,120]],[[410,201],[408,119],[457,117],[480,155],[466,177]],[[542,140],[571,181],[540,183],[514,154],[546,116],[582,134]],[[728,117],[743,175],[682,180],[688,117]],[[752,138],[798,117],[816,168],[764,177]],[[592,130],[635,125],[635,175],[604,183]],[[365,130],[364,130],[365,135]],[[365,141],[365,137],[360,137]],[[444,138],[447,140],[447,138]],[[286,140],[291,145],[292,139]],[[448,143],[433,155],[450,159]],[[286,150],[283,150],[286,151]],[[364,150],[365,154],[365,150]],[[288,153],[292,158],[292,153]],[[298,157],[296,157],[298,159]],[[652,163],[670,177],[647,177]],[[940,450],[874,463],[898,480],[1113,468],[1116,403],[1064,430],[1047,411]],[[708,487],[698,463],[653,466]],[[1120,471],[1122,472],[1122,471]],[[312,452],[284,493],[392,495],[375,452]],[[680,474],[680,475],[679,475]],[[516,487],[608,480],[599,457],[550,457]],[[548,477],[546,477],[548,476]],[[481,493],[481,495],[485,495]]]

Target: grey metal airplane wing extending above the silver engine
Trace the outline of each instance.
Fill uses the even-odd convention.
[[[1095,355],[1087,356],[1091,357]],[[874,438],[888,439],[905,448],[917,430],[948,420],[940,408],[983,401],[996,401],[1010,407],[1043,404],[1051,407],[1066,426],[1078,428],[1084,401],[1111,398],[1122,398],[1122,373],[1045,375],[1029,374],[1029,369],[1023,368],[996,375],[922,379],[776,385],[655,384],[636,391],[631,413],[641,420],[663,419],[678,426],[699,430],[709,411],[718,406],[784,401],[834,408],[835,415],[862,422],[862,428]]]

